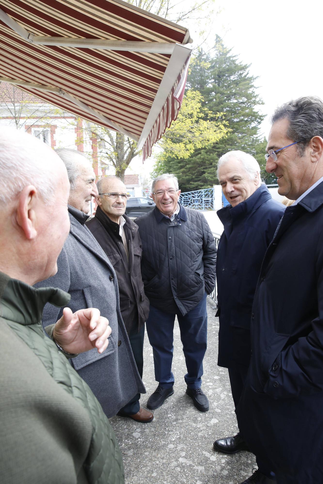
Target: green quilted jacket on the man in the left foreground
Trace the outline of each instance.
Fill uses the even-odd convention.
[[[0,272],[1,483],[124,483],[107,417],[42,329],[46,302],[68,300]]]

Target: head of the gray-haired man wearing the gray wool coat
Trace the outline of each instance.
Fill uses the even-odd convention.
[[[68,204],[88,213],[92,197],[97,197],[96,175],[91,163],[80,151],[59,149],[56,153],[65,164],[71,186]]]

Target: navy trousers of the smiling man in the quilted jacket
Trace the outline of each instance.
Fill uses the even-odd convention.
[[[149,343],[153,348],[155,379],[165,388],[174,385],[172,360],[176,316],[187,368],[184,377],[186,384],[192,389],[201,387],[203,358],[207,349],[206,298],[205,293],[202,300],[185,316],[182,316],[179,311],[178,313],[166,313],[150,305],[146,329]]]

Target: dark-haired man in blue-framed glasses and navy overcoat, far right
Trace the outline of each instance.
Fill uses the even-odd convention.
[[[258,278],[252,356],[237,411],[277,484],[323,482],[323,102],[278,107],[266,170],[287,207]],[[251,481],[251,479],[250,479]],[[249,481],[248,481],[249,482]],[[254,482],[258,482],[255,480]]]

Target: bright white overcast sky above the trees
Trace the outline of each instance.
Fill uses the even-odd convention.
[[[251,64],[264,101],[259,111],[267,115],[261,125],[264,136],[268,137],[269,117],[276,106],[304,95],[323,99],[322,0],[218,0],[216,8],[221,12],[213,16],[202,47],[210,48],[218,34],[240,61]],[[193,46],[198,45],[194,22],[182,24],[189,28]],[[144,171],[149,173],[152,165],[150,158]],[[133,169],[137,167],[134,162]]]

